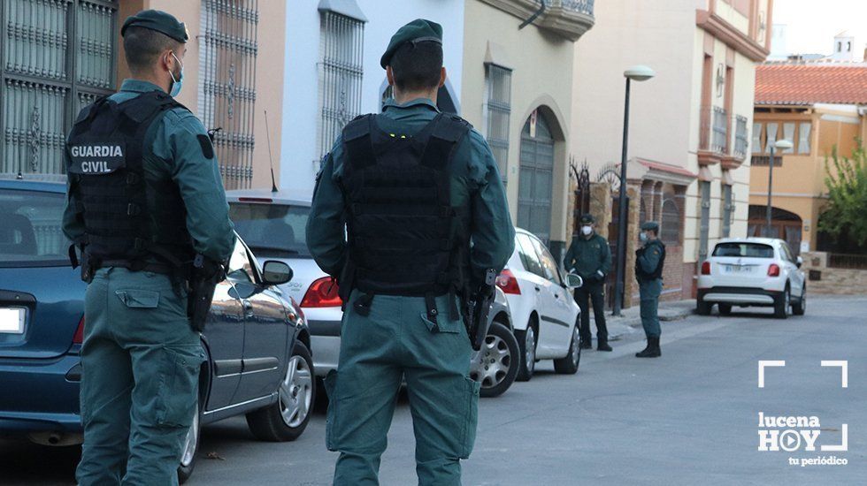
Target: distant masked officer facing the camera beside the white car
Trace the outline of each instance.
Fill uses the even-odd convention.
[[[611,351],[608,345],[608,328],[605,326],[605,276],[611,270],[611,250],[608,241],[596,234],[593,215],[581,216],[581,234],[572,239],[566,252],[564,268],[574,271],[584,285],[575,289],[575,301],[581,308],[581,348],[590,349],[590,308],[587,300],[593,302],[593,316],[596,321],[596,349]]]

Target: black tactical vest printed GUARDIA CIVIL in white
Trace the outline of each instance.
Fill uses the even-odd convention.
[[[103,98],[81,110],[66,144],[66,173],[95,268],[172,273],[192,259],[187,211],[168,175],[142,166],[145,134],[166,111],[183,105],[161,91],[123,103]],[[162,263],[154,263],[162,262]]]

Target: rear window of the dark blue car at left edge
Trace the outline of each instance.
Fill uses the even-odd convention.
[[[0,267],[69,265],[64,194],[0,189]]]

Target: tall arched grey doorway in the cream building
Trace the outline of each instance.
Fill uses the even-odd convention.
[[[535,110],[521,132],[518,226],[546,244],[551,237],[553,190],[554,135],[545,114]]]

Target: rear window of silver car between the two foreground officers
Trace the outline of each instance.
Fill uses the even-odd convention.
[[[258,256],[311,258],[306,227],[310,208],[288,204],[232,202],[235,230]]]

